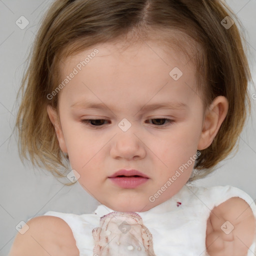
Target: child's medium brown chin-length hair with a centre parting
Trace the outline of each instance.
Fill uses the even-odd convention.
[[[228,29],[221,24],[226,16],[235,20]],[[188,181],[206,176],[235,148],[247,116],[246,104],[250,112],[250,71],[238,24],[220,0],[55,0],[42,19],[18,93],[21,160],[28,152],[33,165],[65,176],[62,169],[68,160],[46,111],[47,104],[58,108],[58,97],[49,100],[47,95],[60,82],[58,65],[64,57],[98,43],[124,40],[131,32],[148,39],[149,31],[154,31],[167,35],[162,37],[166,45],[168,36],[169,45],[193,45],[187,56],[196,67],[205,107],[218,95],[228,100],[227,116],[210,146],[200,150]],[[176,31],[178,39],[170,31]]]

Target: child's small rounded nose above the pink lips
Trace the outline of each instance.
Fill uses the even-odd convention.
[[[138,132],[130,127],[127,131],[118,131],[113,137],[110,149],[112,158],[125,158],[127,160],[141,159],[145,157],[146,145]]]

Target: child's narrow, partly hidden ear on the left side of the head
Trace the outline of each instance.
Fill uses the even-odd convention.
[[[50,105],[47,105],[46,109],[47,109],[47,113],[48,113],[48,116],[50,118],[50,121],[51,121],[51,123],[53,124],[53,126],[55,128],[55,132],[56,132],[56,136],[57,136],[57,139],[58,139],[59,147],[60,147],[60,149],[62,150],[63,153],[67,153],[65,139],[64,139],[63,132],[62,132],[61,126],[59,124],[59,121],[57,119],[56,110]]]

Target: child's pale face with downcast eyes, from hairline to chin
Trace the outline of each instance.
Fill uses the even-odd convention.
[[[104,43],[95,47],[95,56],[91,48],[61,65],[63,80],[76,73],[74,68],[78,73],[69,75],[59,92],[60,147],[82,187],[117,211],[145,211],[177,193],[202,143],[203,105],[195,92],[194,66],[177,50],[167,55],[164,46],[147,44],[122,52],[121,45]],[[171,72],[177,80],[169,74],[174,67],[183,72]],[[88,102],[103,107],[86,108]],[[184,106],[175,107],[178,102]],[[174,107],[141,109],[151,104]],[[93,118],[106,121],[82,122]],[[136,169],[148,178],[123,188],[109,178],[119,169]]]

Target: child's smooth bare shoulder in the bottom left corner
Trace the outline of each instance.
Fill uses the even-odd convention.
[[[36,216],[26,223],[29,229],[17,233],[8,256],[78,256],[72,230],[56,216]]]

